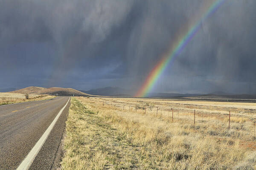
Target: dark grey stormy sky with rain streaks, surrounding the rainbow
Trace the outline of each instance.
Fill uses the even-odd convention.
[[[0,89],[136,92],[213,0],[0,0]],[[151,92],[256,94],[256,1],[225,0]]]

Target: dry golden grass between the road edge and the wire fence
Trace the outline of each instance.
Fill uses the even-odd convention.
[[[72,98],[63,169],[256,168],[256,151],[241,140],[240,130],[208,127],[206,117],[202,124],[186,119],[172,123],[169,113],[160,111],[156,117],[153,111],[145,115],[119,105]]]

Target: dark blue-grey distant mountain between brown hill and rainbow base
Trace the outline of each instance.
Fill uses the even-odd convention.
[[[86,94],[99,95],[99,96],[119,96],[119,97],[131,97],[130,92],[124,88],[119,87],[105,87],[97,88],[89,91],[80,90]]]

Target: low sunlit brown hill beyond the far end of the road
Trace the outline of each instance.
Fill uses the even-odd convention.
[[[11,91],[12,93],[21,93],[21,94],[48,94],[48,95],[57,95],[58,96],[92,96],[90,94],[85,94],[81,91],[75,90],[73,88],[41,88],[30,86],[27,88],[22,88],[20,90]]]

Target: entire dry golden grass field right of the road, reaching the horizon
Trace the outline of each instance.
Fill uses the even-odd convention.
[[[253,170],[253,107],[248,103],[73,97],[61,165],[65,170]]]

